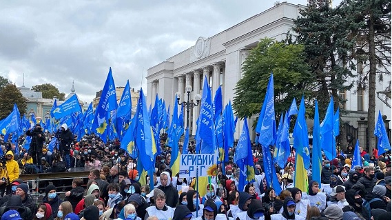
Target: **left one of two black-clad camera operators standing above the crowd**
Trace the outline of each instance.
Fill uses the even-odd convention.
[[[26,132],[26,135],[32,137],[29,154],[32,157],[33,163],[38,164],[42,157],[43,141],[45,141],[45,136],[43,136],[41,125],[37,123],[32,129],[29,128]]]

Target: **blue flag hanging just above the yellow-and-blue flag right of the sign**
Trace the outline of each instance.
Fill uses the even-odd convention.
[[[298,117],[296,125],[293,131],[294,137],[294,148],[296,148],[296,154],[300,154],[304,161],[305,169],[309,169],[310,166],[310,155],[309,155],[309,137],[307,122],[305,120],[305,99],[302,96],[300,103],[300,110],[298,110]]]

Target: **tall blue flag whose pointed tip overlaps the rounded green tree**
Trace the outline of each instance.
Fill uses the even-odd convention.
[[[258,143],[264,148],[274,146],[276,141],[276,123],[274,106],[274,77],[271,74],[264,102],[258,117],[256,132],[260,134]]]

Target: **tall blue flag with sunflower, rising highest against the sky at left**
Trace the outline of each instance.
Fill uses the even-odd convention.
[[[117,97],[116,97],[116,86],[114,86],[114,80],[112,76],[112,68],[109,69],[105,86],[103,87],[101,99],[99,104],[96,106],[94,120],[92,123],[92,132],[98,134],[99,137],[106,143],[107,134],[109,129],[110,112],[117,109]],[[147,107],[146,107],[147,112]],[[148,115],[147,115],[148,117]]]

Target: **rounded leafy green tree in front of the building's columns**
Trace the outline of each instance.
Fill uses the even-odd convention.
[[[302,45],[261,39],[249,52],[243,77],[237,82],[233,107],[240,118],[258,114],[267,92],[269,75],[274,73],[275,110],[285,112],[295,97],[311,97],[314,77],[305,63]]]

